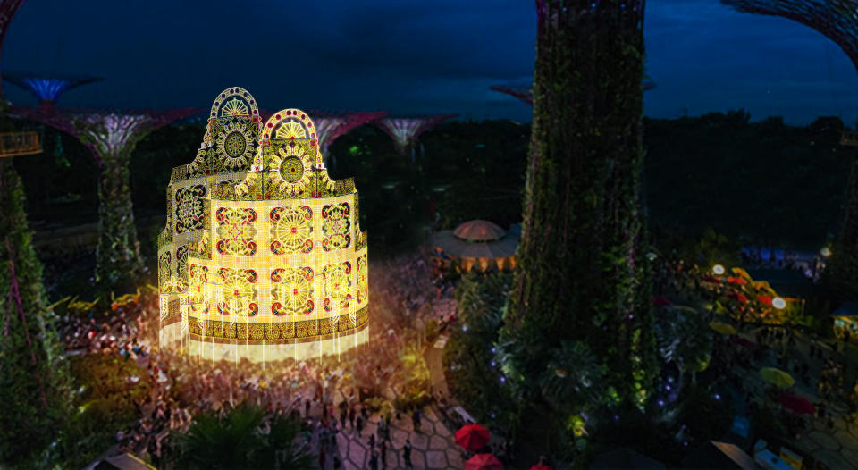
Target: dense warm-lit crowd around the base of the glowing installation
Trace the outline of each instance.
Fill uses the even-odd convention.
[[[307,445],[318,451],[320,464],[336,456],[336,434],[361,432],[377,414],[381,422],[371,442],[369,465],[385,466],[387,453],[397,451],[408,461],[410,442],[403,449],[392,449],[392,419],[412,420],[420,426],[419,411],[394,409],[391,400],[384,407],[367,405],[371,397],[390,397],[398,392],[402,376],[401,352],[413,341],[416,323],[439,324],[453,321],[454,315],[435,314],[433,302],[452,296],[451,286],[441,276],[433,276],[419,256],[400,257],[374,266],[371,282],[371,339],[355,354],[339,361],[286,361],[250,363],[210,360],[173,354],[157,348],[158,314],[156,296],[129,298],[112,305],[103,321],[64,315],[60,333],[70,354],[117,355],[136,362],[145,376],[130,377],[130,382],[145,381],[148,395],[135,403],[139,419],[126,429],[116,430],[116,445],[121,451],[148,455],[158,463],[174,456],[171,433],[187,432],[193,416],[201,412],[225,413],[231,407],[249,402],[267,410],[265,422],[274,415],[300,415]],[[452,317],[452,318],[451,318]],[[395,390],[395,391],[394,391]],[[393,393],[391,393],[391,391]],[[377,401],[376,401],[377,403]],[[323,466],[324,467],[324,466]]]

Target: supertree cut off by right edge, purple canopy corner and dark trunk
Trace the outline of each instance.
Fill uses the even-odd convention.
[[[858,0],[721,0],[742,13],[780,16],[816,29],[840,46],[858,71]],[[854,146],[854,134],[841,142]],[[826,277],[849,298],[858,295],[858,159],[854,159],[847,186],[843,219]]]

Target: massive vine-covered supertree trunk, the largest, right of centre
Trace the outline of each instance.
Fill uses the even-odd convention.
[[[562,341],[583,340],[607,365],[610,395],[640,403],[655,360],[639,200],[644,0],[536,7],[524,223],[502,341],[522,352],[518,379],[534,382],[553,373]]]

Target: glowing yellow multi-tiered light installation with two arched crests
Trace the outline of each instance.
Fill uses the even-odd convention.
[[[210,360],[339,355],[369,333],[354,181],[328,177],[314,122],[214,101],[197,158],[173,168],[158,238],[160,343]]]

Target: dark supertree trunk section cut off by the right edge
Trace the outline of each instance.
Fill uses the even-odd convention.
[[[858,298],[858,158],[849,175],[843,214],[825,277],[843,299],[854,300]]]

